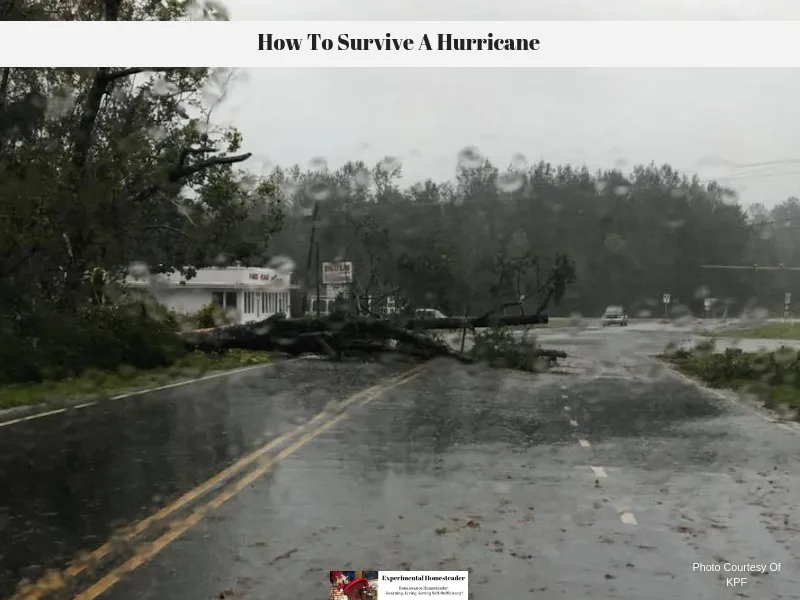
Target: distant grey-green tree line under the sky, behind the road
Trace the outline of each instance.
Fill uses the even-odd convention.
[[[527,311],[558,300],[551,314],[597,316],[620,304],[661,316],[664,294],[673,315],[702,315],[706,298],[715,314],[774,313],[797,288],[791,271],[755,266],[800,266],[800,201],[747,208],[731,190],[669,165],[591,172],[517,155],[498,168],[466,148],[452,181],[403,185],[392,158],[272,177],[286,206],[273,250],[304,256],[313,227],[323,260],[352,260],[363,293],[399,294],[448,314],[523,297]],[[307,265],[297,269],[313,284]]]

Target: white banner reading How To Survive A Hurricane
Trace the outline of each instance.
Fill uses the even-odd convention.
[[[800,67],[800,21],[2,21],[9,67]]]

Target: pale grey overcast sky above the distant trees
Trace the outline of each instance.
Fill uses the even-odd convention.
[[[227,0],[234,20],[800,20],[796,0]],[[709,43],[713,43],[712,40]],[[800,71],[767,69],[250,69],[218,120],[251,168],[398,158],[449,179],[475,146],[498,165],[668,162],[745,202],[800,196]],[[782,162],[777,162],[782,161]],[[774,163],[774,164],[763,164]]]

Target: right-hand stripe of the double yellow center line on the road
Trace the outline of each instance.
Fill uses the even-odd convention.
[[[412,379],[415,379],[419,375],[420,373],[419,371],[417,371],[416,373],[408,375],[402,379],[395,380],[392,383],[381,387],[380,390],[376,390],[372,394],[364,397],[360,404],[363,405],[372,402],[373,400],[378,398],[382,392],[392,387],[402,385],[407,381],[411,381]],[[226,488],[223,492],[218,494],[212,500],[210,500],[209,502],[207,502],[206,504],[204,504],[203,506],[192,512],[192,514],[190,514],[188,517],[180,519],[175,523],[173,523],[172,526],[170,527],[170,530],[161,537],[159,537],[157,540],[155,540],[153,543],[143,544],[140,548],[137,549],[137,552],[133,557],[128,559],[125,563],[123,563],[116,569],[112,570],[110,573],[108,573],[108,575],[100,579],[90,588],[75,596],[73,600],[94,600],[101,594],[108,591],[108,589],[111,588],[116,583],[118,583],[123,576],[125,576],[134,569],[139,568],[140,566],[151,560],[154,556],[156,556],[169,544],[174,542],[177,538],[186,533],[186,531],[188,531],[194,525],[199,523],[203,519],[203,517],[205,517],[206,514],[221,507],[225,502],[233,498],[237,493],[239,493],[244,488],[257,481],[274,465],[278,464],[286,457],[288,457],[295,451],[305,446],[308,442],[319,436],[321,433],[327,431],[328,429],[336,425],[338,422],[346,419],[348,416],[349,415],[347,413],[341,413],[340,415],[320,425],[317,429],[305,434],[299,440],[297,440],[292,445],[288,446],[287,448],[276,454],[274,457],[264,461],[257,469],[254,469],[253,471],[248,473],[242,479],[237,481],[234,485]]]

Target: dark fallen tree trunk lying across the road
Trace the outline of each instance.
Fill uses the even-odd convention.
[[[193,331],[182,335],[188,351],[224,352],[238,348],[283,352],[292,356],[322,354],[335,359],[341,359],[350,353],[391,351],[420,359],[448,356],[463,363],[471,363],[476,360],[474,356],[458,352],[446,342],[421,332],[547,322],[546,315],[410,319],[399,324],[387,319],[347,313],[298,319],[274,315],[255,323]],[[538,352],[551,362],[566,357],[564,352],[555,350]]]

